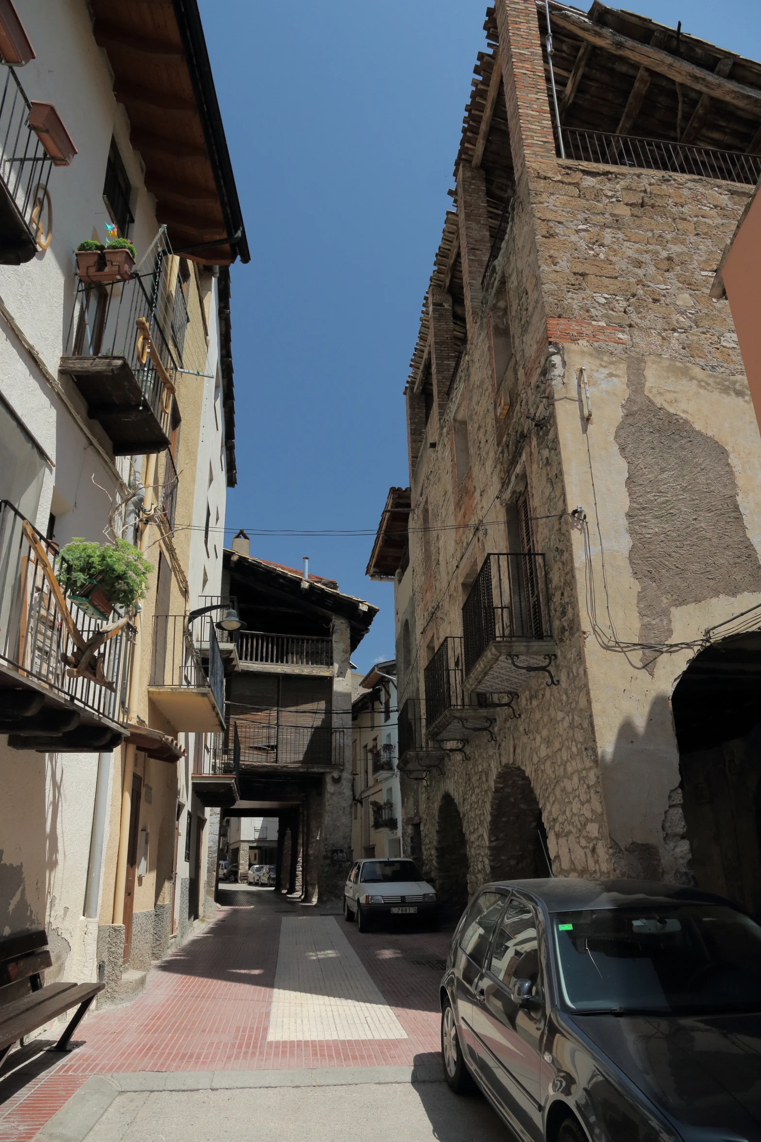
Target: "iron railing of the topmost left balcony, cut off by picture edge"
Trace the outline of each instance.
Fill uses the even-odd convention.
[[[37,243],[38,224],[52,159],[29,127],[32,106],[13,67],[6,69],[0,98],[0,138],[2,152],[0,178],[18,210],[30,239]]]

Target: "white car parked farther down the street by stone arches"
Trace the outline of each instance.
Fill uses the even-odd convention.
[[[438,902],[414,861],[403,858],[369,858],[351,867],[343,888],[343,917],[356,917],[366,932],[374,916],[426,918],[438,927]]]

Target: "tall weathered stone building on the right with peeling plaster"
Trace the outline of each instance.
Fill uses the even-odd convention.
[[[369,568],[396,573],[405,829],[453,907],[549,861],[758,911],[761,442],[713,295],[761,67],[549,10],[553,74],[544,3],[487,10],[405,389],[408,545],[391,494]]]

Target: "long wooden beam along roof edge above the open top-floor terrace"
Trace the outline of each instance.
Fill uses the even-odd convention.
[[[690,64],[687,59],[672,56],[661,48],[654,48],[650,43],[640,43],[609,27],[592,24],[585,16],[577,16],[567,8],[552,7],[552,24],[580,37],[596,48],[602,48],[614,56],[629,59],[630,63],[647,67],[658,75],[665,75],[674,83],[683,83],[694,91],[721,99],[722,103],[729,103],[748,114],[761,115],[761,90],[756,87],[736,83],[731,79],[717,75],[715,72]]]

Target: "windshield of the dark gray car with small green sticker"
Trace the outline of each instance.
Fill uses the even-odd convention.
[[[729,906],[559,912],[552,923],[573,1011],[761,1010],[761,927]]]

